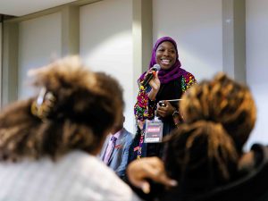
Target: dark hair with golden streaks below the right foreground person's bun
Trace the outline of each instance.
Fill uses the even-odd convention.
[[[226,183],[236,173],[237,161],[234,142],[220,123],[185,123],[167,138],[166,171],[184,190],[188,184],[203,191]]]

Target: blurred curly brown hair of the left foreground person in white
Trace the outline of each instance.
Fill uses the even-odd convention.
[[[0,160],[55,159],[73,149],[93,153],[120,121],[124,105],[121,86],[105,73],[88,71],[78,57],[64,58],[29,71],[29,75],[34,77],[34,86],[53,95],[53,105],[45,98],[42,115],[33,113],[32,108],[40,105],[38,97],[31,97],[4,109],[0,114]]]

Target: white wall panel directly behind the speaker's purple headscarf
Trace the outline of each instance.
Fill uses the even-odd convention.
[[[154,0],[153,33],[178,45],[182,68],[197,80],[222,71],[222,0]]]

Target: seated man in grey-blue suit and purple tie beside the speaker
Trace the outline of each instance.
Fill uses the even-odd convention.
[[[121,113],[121,121],[116,124],[107,136],[100,158],[122,179],[125,180],[130,144],[133,135],[123,127],[125,121]]]

